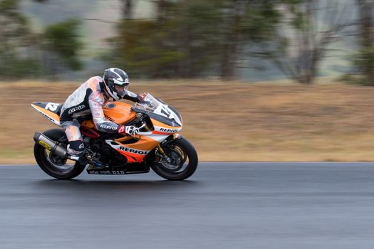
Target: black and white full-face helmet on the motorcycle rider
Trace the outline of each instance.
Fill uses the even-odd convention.
[[[108,68],[104,70],[103,82],[105,90],[113,100],[120,100],[125,97],[130,81],[128,74],[120,68]]]

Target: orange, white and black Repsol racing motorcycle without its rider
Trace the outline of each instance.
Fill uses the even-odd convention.
[[[60,126],[62,104],[33,102],[44,117]],[[86,166],[88,174],[139,174],[152,169],[168,180],[184,180],[197,169],[197,152],[178,132],[182,117],[174,107],[145,95],[141,102],[108,102],[103,106],[105,117],[117,124],[134,125],[136,135],[108,134],[95,129],[92,118],[80,122],[85,152],[73,159],[66,147],[63,129],[35,132],[34,157],[46,174],[56,179],[73,179]]]

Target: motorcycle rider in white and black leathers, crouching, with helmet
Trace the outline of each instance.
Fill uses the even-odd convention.
[[[114,101],[121,98],[140,102],[144,94],[136,95],[128,90],[130,81],[127,73],[119,68],[104,70],[103,78],[94,76],[80,85],[63,103],[60,122],[68,137],[68,153],[71,159],[78,160],[84,152],[83,138],[80,134],[80,121],[92,115],[93,123],[100,132],[137,134],[139,129],[130,125],[116,124],[105,119],[103,105],[110,98]]]

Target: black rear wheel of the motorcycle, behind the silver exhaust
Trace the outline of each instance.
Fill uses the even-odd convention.
[[[68,145],[63,129],[48,129],[43,134],[55,142],[60,142],[64,147]],[[33,154],[41,169],[57,179],[72,179],[85,169],[85,165],[58,157],[37,143],[33,147]]]

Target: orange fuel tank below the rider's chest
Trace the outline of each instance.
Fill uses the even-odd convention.
[[[125,124],[136,117],[131,105],[123,102],[108,102],[103,111],[106,119],[117,124]]]

